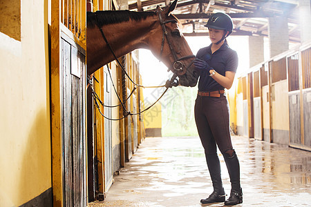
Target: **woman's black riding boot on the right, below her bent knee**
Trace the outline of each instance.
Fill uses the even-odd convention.
[[[232,157],[227,153],[224,153],[224,157],[231,182],[230,197],[225,201],[225,205],[242,204],[243,193],[240,184],[240,164],[238,162],[238,156],[236,156],[236,152],[233,152]]]

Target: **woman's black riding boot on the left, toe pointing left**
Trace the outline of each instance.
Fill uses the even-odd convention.
[[[217,154],[205,155],[207,166],[209,168],[209,175],[213,183],[214,191],[207,199],[201,199],[202,204],[211,204],[225,201],[225,190],[223,189],[223,182],[220,176],[220,161]]]

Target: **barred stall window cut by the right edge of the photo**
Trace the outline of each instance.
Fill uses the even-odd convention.
[[[301,52],[301,65],[303,72],[303,89],[311,88],[311,48]]]

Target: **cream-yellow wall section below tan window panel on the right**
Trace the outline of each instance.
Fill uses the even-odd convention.
[[[276,130],[290,130],[290,115],[288,106],[288,81],[273,83],[272,94],[272,128]]]

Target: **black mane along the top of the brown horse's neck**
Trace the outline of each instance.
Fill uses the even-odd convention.
[[[122,23],[124,21],[129,21],[130,19],[140,21],[141,19],[146,19],[155,14],[156,12],[132,12],[129,10],[87,12],[86,22],[88,27],[94,27],[97,24],[101,27],[111,23]]]

